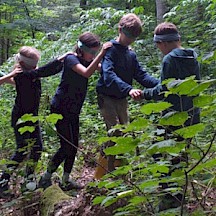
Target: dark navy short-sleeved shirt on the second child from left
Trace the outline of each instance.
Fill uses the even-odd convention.
[[[68,55],[65,58],[61,82],[51,103],[52,107],[67,118],[80,113],[87,92],[88,78],[72,70],[76,64],[87,67],[90,63],[75,55]]]

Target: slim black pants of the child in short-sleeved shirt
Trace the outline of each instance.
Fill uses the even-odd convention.
[[[52,113],[59,113],[51,109]],[[60,139],[60,148],[55,153],[48,165],[48,172],[53,173],[59,165],[64,162],[64,172],[70,173],[74,164],[78,148],[79,138],[79,115],[70,115],[69,118],[63,117],[56,123],[56,130]]]

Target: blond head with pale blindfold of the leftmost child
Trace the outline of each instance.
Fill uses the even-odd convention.
[[[22,46],[19,49],[18,54],[16,55],[17,66],[21,66],[24,69],[33,69],[37,66],[37,63],[40,59],[40,52],[30,46]]]

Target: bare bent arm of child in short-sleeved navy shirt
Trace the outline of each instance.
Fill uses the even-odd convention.
[[[106,50],[112,46],[111,42],[106,42],[103,44],[101,51],[95,57],[95,59],[91,62],[91,64],[86,68],[82,64],[76,64],[72,67],[73,71],[77,72],[78,74],[89,78],[96,69],[100,69],[100,61],[102,60],[103,56],[106,53]]]

